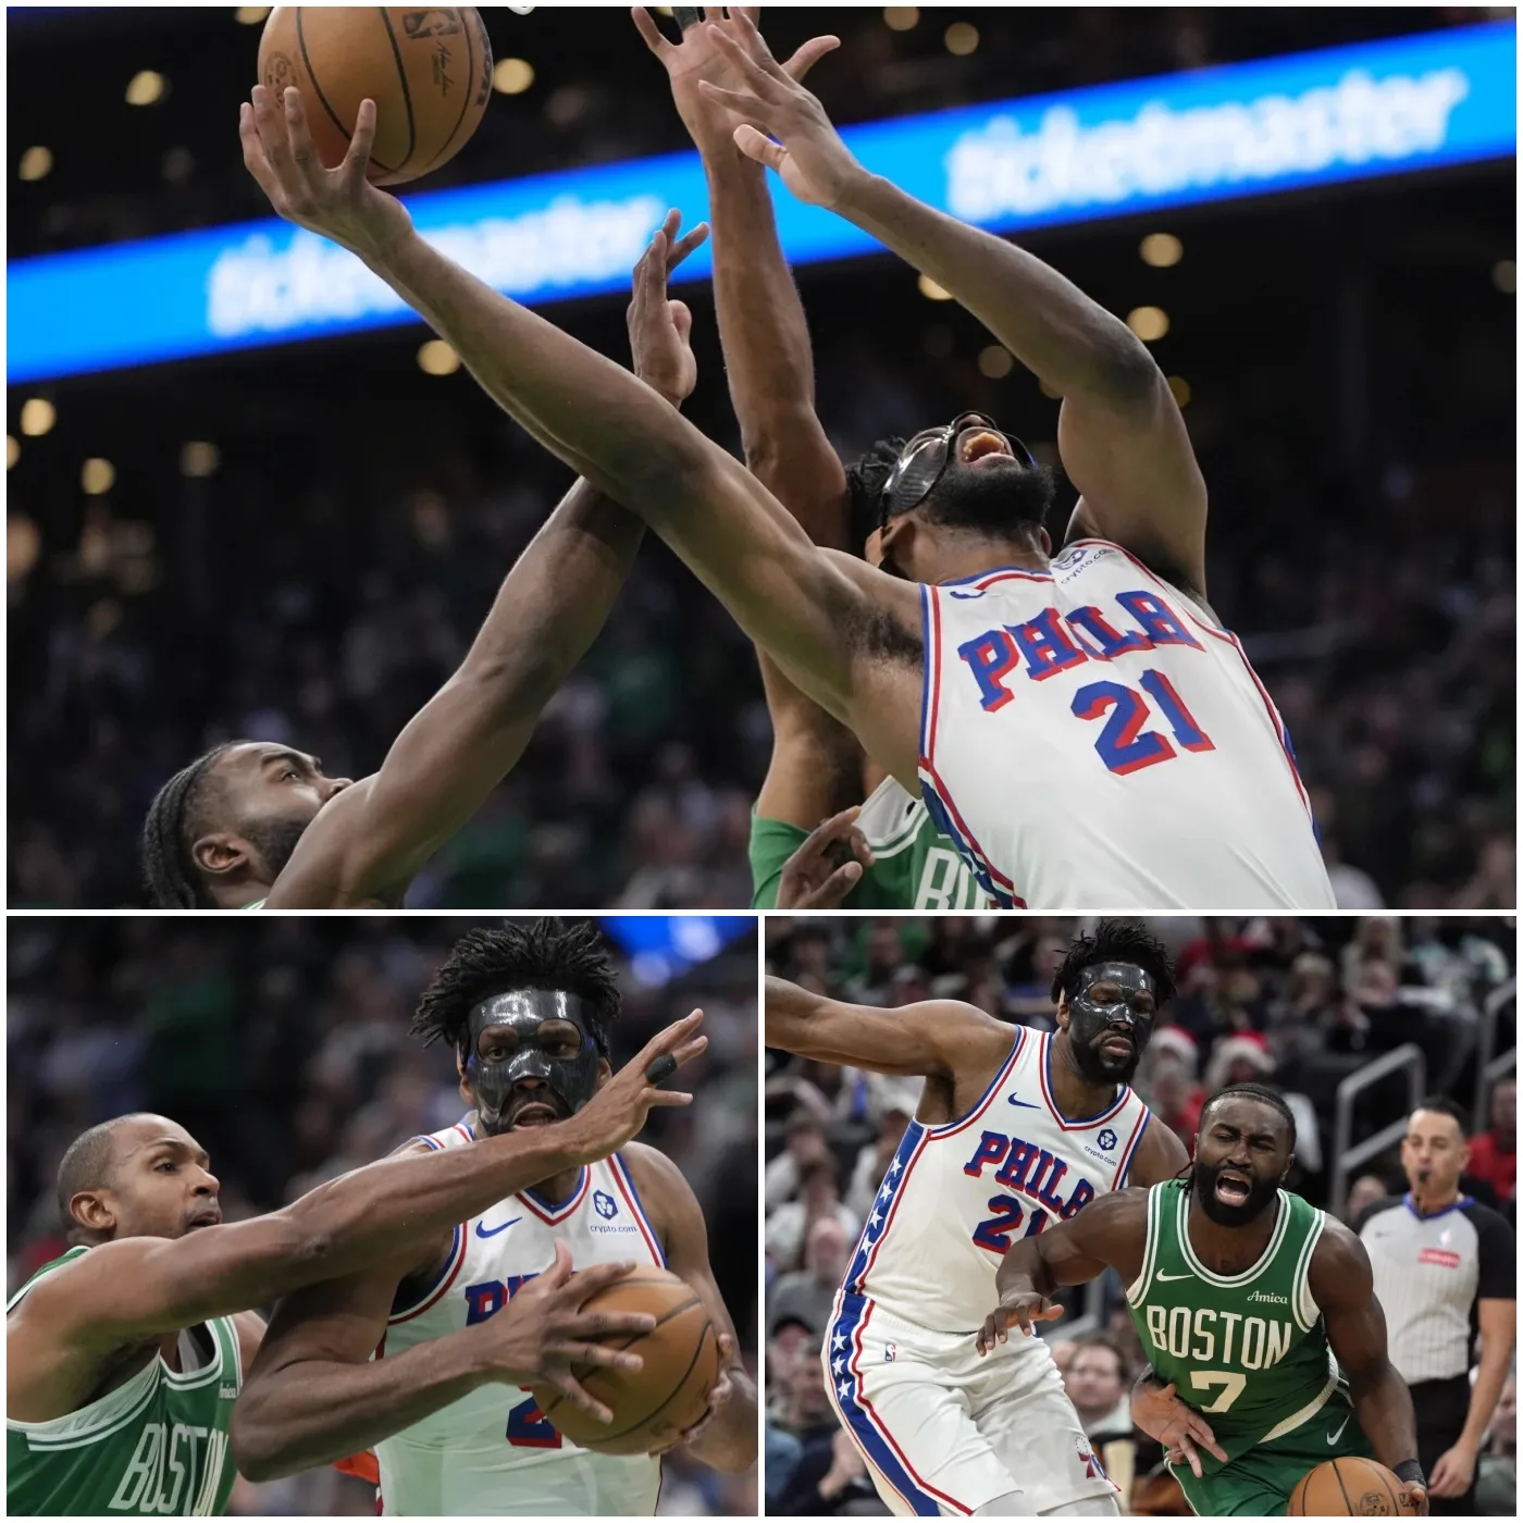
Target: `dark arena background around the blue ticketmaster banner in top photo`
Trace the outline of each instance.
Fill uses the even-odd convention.
[[[842,37],[812,75],[841,122],[1419,32],[1448,9],[877,9],[763,17],[777,52]],[[428,187],[687,146],[620,9],[486,12],[495,94]],[[969,56],[947,52],[956,21]],[[670,29],[670,23],[666,23]],[[259,29],[230,11],[8,14],[9,254],[268,215],[235,104]],[[161,70],[155,107],[126,79]],[[61,88],[59,79],[69,87]],[[85,104],[85,108],[82,108]],[[55,168],[15,178],[46,143]],[[786,193],[786,192],[783,192]],[[1515,184],[1512,163],[1055,228],[1023,242],[1112,311],[1164,306],[1153,346],[1211,489],[1211,597],[1279,704],[1346,908],[1509,908],[1514,856]],[[1151,231],[1183,260],[1150,268]],[[1051,454],[1057,404],[928,302],[891,257],[798,274],[819,410],[850,457],[959,408]],[[690,416],[730,448],[707,286]],[[624,359],[623,300],[554,321]],[[570,484],[420,326],[15,388],[58,423],[9,471],[12,903],[131,902],[154,789],[227,736],[375,769],[463,655],[513,556]],[[187,440],[221,468],[180,475]],[[87,498],[85,457],[114,489]],[[1065,492],[1060,512],[1066,513]],[[748,807],[769,726],[748,643],[659,544],[524,762],[413,903],[749,899]]]

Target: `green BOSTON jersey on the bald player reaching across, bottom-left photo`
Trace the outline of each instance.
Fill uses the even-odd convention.
[[[44,1264],[6,1311],[43,1276],[87,1252],[75,1247]],[[50,1422],[6,1419],[6,1512],[225,1512],[238,1479],[227,1432],[244,1383],[242,1359],[231,1317],[213,1317],[206,1330],[215,1351],[200,1369],[177,1374],[154,1357],[126,1384],[67,1416]]]

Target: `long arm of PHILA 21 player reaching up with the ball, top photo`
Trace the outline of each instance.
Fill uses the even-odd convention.
[[[416,235],[399,201],[364,177],[375,104],[362,102],[344,166],[324,171],[288,90],[244,108],[244,158],[276,210],[352,250],[422,314],[483,388],[536,439],[650,524],[789,675],[915,777],[914,716],[874,704],[874,631],[918,643],[918,597],[868,567],[816,550],[739,461],[649,387],[498,295]],[[656,235],[664,253],[664,235]],[[894,673],[902,681],[903,672]]]

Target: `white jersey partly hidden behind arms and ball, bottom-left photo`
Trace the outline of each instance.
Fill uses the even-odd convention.
[[[466,1147],[466,1125],[416,1141]],[[624,1161],[588,1164],[556,1206],[533,1191],[509,1196],[455,1228],[449,1260],[411,1305],[393,1308],[378,1359],[475,1327],[501,1311],[554,1261],[556,1240],[576,1269],[615,1260],[666,1267]],[[516,1386],[487,1384],[376,1445],[381,1505],[410,1517],[650,1515],[661,1462],[594,1454],[562,1438]]]

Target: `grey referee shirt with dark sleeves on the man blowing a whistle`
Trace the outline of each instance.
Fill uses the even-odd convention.
[[[1412,1196],[1377,1200],[1355,1223],[1386,1313],[1390,1363],[1409,1384],[1453,1380],[1476,1354],[1477,1301],[1517,1298],[1517,1238],[1489,1206],[1461,1196],[1419,1217]]]

